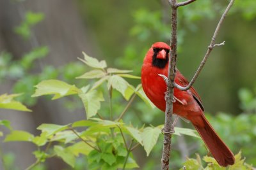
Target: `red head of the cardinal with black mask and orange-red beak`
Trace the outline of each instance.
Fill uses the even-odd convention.
[[[163,42],[154,43],[148,50],[147,57],[151,57],[152,66],[163,69],[168,64],[170,46]]]

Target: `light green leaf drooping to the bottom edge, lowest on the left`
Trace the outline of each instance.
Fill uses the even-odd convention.
[[[54,146],[54,152],[58,157],[61,157],[64,162],[66,162],[71,167],[75,166],[76,163],[76,157],[73,155],[70,150],[67,150],[66,148],[63,148],[62,146],[55,145]]]

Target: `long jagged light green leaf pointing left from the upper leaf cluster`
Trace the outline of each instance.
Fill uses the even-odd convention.
[[[58,99],[60,97],[77,94],[79,91],[75,85],[69,85],[60,80],[44,80],[38,83],[35,87],[36,92],[31,97],[54,94],[52,99]]]

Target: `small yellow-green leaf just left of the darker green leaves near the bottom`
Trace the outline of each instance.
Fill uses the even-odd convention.
[[[94,145],[94,143],[91,144]],[[84,143],[83,141],[80,141],[75,143],[74,145],[68,146],[67,150],[72,152],[77,157],[80,153],[83,155],[88,155],[93,150],[93,148]]]

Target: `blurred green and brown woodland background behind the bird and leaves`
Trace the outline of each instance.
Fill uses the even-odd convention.
[[[179,9],[178,67],[188,80],[204,57],[227,4],[228,1],[204,0]],[[242,150],[246,161],[254,165],[255,17],[253,0],[235,2],[216,39],[216,43],[225,41],[225,46],[214,48],[194,85],[216,131],[234,153]],[[20,101],[33,110],[33,113],[1,110],[0,117],[9,119],[18,129],[34,133],[33,129],[42,122],[65,124],[79,120],[83,118],[83,111],[77,99],[51,104],[47,99],[36,101],[30,97],[33,85],[40,80],[59,78],[82,87],[86,81],[75,79],[86,70],[76,59],[82,51],[107,60],[111,67],[133,69],[134,75],[140,76],[143,57],[156,41],[170,43],[170,6],[165,0],[0,0],[0,92],[24,93]],[[139,81],[131,83],[136,85]],[[159,125],[164,121],[163,113],[149,110],[139,100],[130,112],[125,120],[129,122],[136,117],[138,121],[134,123],[138,125]],[[191,126],[184,122],[179,125]],[[159,167],[161,140],[150,157],[146,157],[142,149],[135,152],[135,157],[143,157],[138,159],[140,169]],[[180,157],[195,157],[195,152],[205,154],[197,139],[175,136],[173,141],[172,162],[176,167],[183,162]],[[3,144],[2,147],[6,154],[12,150],[17,152],[16,160],[9,162],[17,161],[21,167],[33,162],[29,156],[26,160],[19,157],[20,150],[26,150],[29,155],[33,146],[24,144],[13,148]],[[60,162],[58,169],[68,169],[61,160],[56,161]],[[47,169],[56,169],[56,162],[47,164]]]

